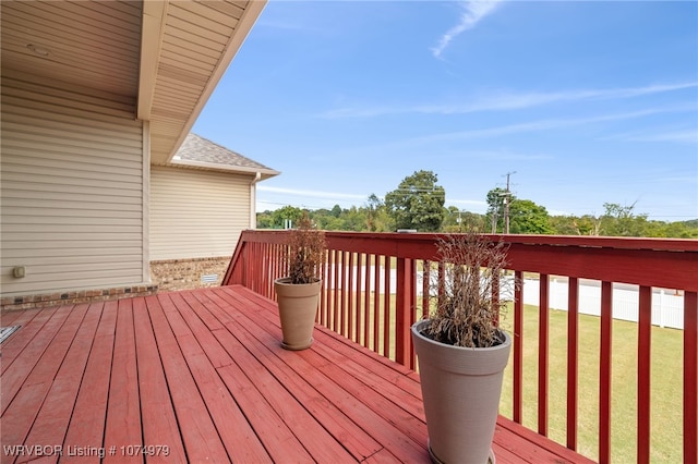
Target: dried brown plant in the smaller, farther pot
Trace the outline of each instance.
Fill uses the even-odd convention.
[[[288,241],[288,277],[291,283],[316,282],[325,262],[326,248],[325,232],[313,228],[308,212],[303,212]]]

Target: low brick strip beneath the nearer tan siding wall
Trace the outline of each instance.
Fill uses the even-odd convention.
[[[157,285],[129,285],[109,289],[44,293],[37,295],[3,296],[0,298],[0,309],[32,309],[79,303],[104,302],[108,300],[154,295],[157,291]]]

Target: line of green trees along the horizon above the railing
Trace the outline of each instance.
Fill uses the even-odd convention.
[[[698,219],[665,222],[650,220],[635,205],[605,203],[599,216],[551,216],[544,206],[518,198],[503,188],[488,192],[488,210],[477,213],[445,207],[446,192],[432,171],[417,171],[405,178],[381,200],[375,194],[362,206],[305,210],[320,229],[356,232],[462,232],[605,235],[698,239]],[[257,213],[257,228],[293,227],[303,209],[285,206]]]

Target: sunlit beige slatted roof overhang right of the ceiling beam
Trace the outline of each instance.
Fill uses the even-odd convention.
[[[149,110],[153,164],[165,164],[174,156],[265,3],[167,3],[165,24],[159,25],[161,45]],[[144,33],[144,37],[157,35]]]

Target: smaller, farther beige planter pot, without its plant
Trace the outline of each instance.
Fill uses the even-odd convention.
[[[305,350],[313,343],[321,286],[321,280],[300,284],[289,278],[274,281],[286,350]]]

